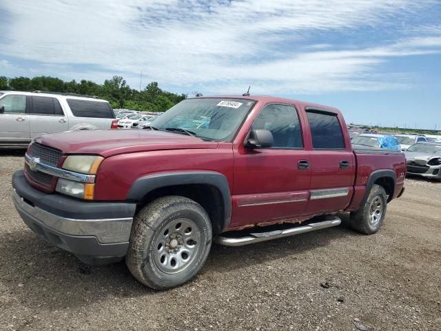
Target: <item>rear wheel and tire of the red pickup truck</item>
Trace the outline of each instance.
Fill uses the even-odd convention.
[[[379,205],[381,206],[379,207]],[[376,210],[380,209],[381,214],[378,215]],[[384,217],[386,217],[387,210],[387,194],[382,186],[373,184],[371,192],[364,205],[356,212],[351,212],[349,225],[353,230],[362,234],[374,234],[380,230]],[[372,214],[377,214],[377,218],[372,217]]]

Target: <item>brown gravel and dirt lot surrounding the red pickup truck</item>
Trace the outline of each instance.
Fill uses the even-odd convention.
[[[10,199],[22,157],[0,152],[0,330],[441,330],[441,183],[407,180],[376,235],[214,245],[194,281],[154,292],[26,228]]]

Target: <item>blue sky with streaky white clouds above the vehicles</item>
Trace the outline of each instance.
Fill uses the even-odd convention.
[[[441,129],[440,0],[0,3],[0,75],[271,94]]]

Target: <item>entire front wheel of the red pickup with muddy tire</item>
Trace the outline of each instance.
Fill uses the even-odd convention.
[[[199,238],[192,241],[191,244],[194,244],[195,248],[192,250],[191,257],[188,257],[189,253],[187,254],[189,259],[187,262],[183,262],[185,257],[183,254],[185,252],[181,252],[181,250],[185,250],[187,247],[185,237],[181,236],[179,238],[180,242],[185,242],[181,243],[181,248],[179,248],[177,254],[167,251],[172,249],[173,246],[170,237],[174,236],[176,238],[178,236],[178,232],[176,234],[172,232],[175,228],[178,229],[177,226],[181,224],[180,220],[185,220],[184,223],[189,222],[187,224],[194,224],[196,228],[187,227],[183,231],[190,229],[189,231],[192,233],[192,236]],[[176,222],[178,223],[175,226]],[[167,230],[169,231],[167,232]],[[167,232],[167,236],[165,236],[165,232]],[[165,242],[163,243],[162,241],[164,240]],[[157,244],[158,242],[160,242],[159,245]],[[166,245],[167,243],[168,246]],[[160,245],[163,245],[161,248],[163,251],[159,250]],[[212,224],[204,208],[195,201],[185,197],[163,197],[146,205],[136,214],[125,263],[130,272],[132,272],[132,275],[144,285],[154,290],[166,290],[182,285],[196,276],[207,259],[211,245]],[[192,246],[189,245],[189,247]],[[178,247],[174,247],[174,249],[177,250]],[[160,254],[163,256],[158,259]],[[182,256],[179,254],[182,254]],[[162,261],[164,256],[166,257],[165,264]],[[173,268],[172,260],[174,258],[176,258],[178,264],[182,264],[180,268],[184,269],[171,273],[172,270],[170,269]],[[168,269],[165,270],[166,268]]]

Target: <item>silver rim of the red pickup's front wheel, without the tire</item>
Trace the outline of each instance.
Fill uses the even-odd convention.
[[[201,232],[191,219],[174,219],[162,228],[154,241],[154,261],[166,274],[187,268],[198,250]]]

